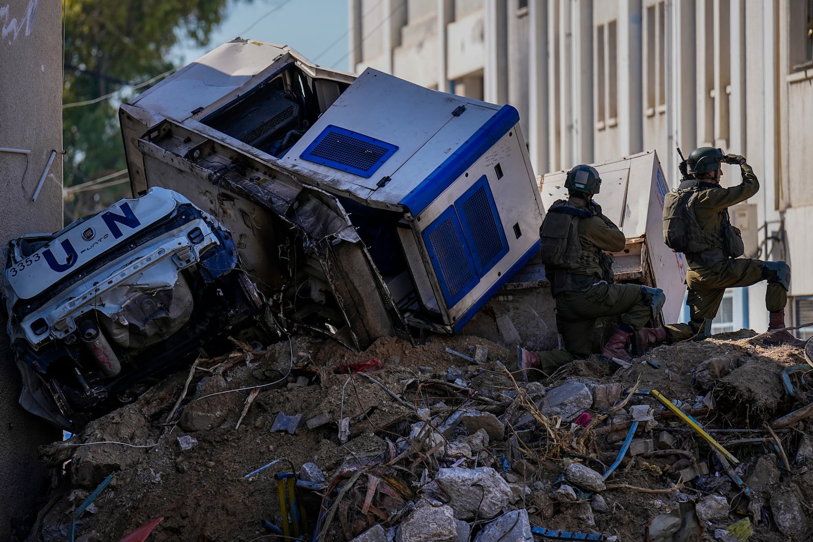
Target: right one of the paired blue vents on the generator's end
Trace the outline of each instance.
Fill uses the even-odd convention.
[[[489,180],[480,177],[455,202],[463,234],[474,251],[474,263],[480,277],[508,252],[502,221],[494,203]]]

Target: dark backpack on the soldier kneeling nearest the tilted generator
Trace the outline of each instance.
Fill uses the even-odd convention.
[[[579,221],[588,216],[591,216],[589,211],[576,208],[563,199],[550,206],[539,227],[543,264],[564,269],[575,269],[580,265]]]

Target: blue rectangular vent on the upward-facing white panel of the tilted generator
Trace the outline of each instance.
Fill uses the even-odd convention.
[[[329,125],[300,155],[302,160],[369,178],[398,146]]]

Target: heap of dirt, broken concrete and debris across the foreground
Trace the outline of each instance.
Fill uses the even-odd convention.
[[[29,540],[810,540],[805,359],[753,335],[539,382],[476,337],[242,345],[43,448]]]

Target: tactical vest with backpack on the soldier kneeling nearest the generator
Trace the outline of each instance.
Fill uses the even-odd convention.
[[[580,220],[589,216],[593,215],[587,209],[559,199],[542,221],[540,256],[554,296],[561,291],[583,291],[604,275],[602,251],[598,247],[585,251],[579,239]]]

